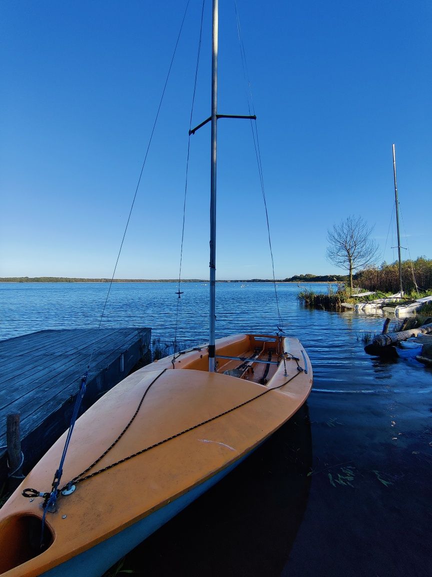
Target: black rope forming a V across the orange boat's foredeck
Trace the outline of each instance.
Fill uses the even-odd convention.
[[[165,369],[166,370],[166,369]],[[149,391],[151,385],[153,385],[153,383],[165,372],[165,370],[160,373],[156,379],[154,379],[154,381],[152,383],[150,383],[149,387],[147,387],[145,394],[143,395],[143,398],[141,399],[141,402],[139,403],[138,409],[137,411],[135,411],[135,415],[134,417],[132,417],[131,421],[128,423],[128,425],[126,426],[126,428],[123,430],[123,432],[120,434],[120,436],[118,437],[118,439],[116,439],[116,441],[111,445],[111,447],[109,447],[107,449],[107,451],[104,452],[103,455],[101,455],[92,465],[90,465],[90,467],[88,467],[85,471],[83,471],[82,473],[80,473],[79,475],[77,475],[77,477],[75,477],[71,482],[73,482],[75,485],[78,483],[81,483],[82,481],[87,481],[88,479],[91,479],[92,477],[96,477],[96,475],[99,475],[101,473],[104,473],[104,471],[108,471],[109,469],[112,469],[113,467],[116,467],[119,464],[122,464],[130,459],[133,459],[134,457],[137,457],[138,455],[142,455],[143,453],[150,451],[150,449],[154,449],[156,447],[160,447],[160,445],[163,445],[164,443],[168,443],[168,441],[172,441],[173,439],[177,439],[177,437],[180,437],[181,435],[185,434],[185,433],[190,433],[192,430],[198,429],[200,426],[203,425],[207,425],[208,423],[215,421],[216,419],[223,417],[224,415],[228,415],[229,413],[232,413],[233,411],[240,409],[240,407],[244,407],[246,404],[251,403],[253,400],[259,399],[260,397],[267,395],[267,393],[269,393],[270,391],[275,391],[276,389],[280,389],[281,387],[285,387],[285,385],[287,385],[288,383],[290,383],[293,379],[295,379],[295,377],[297,377],[301,372],[303,372],[302,370],[298,370],[297,373],[295,373],[292,377],[290,377],[290,379],[288,379],[287,381],[285,381],[285,383],[282,383],[281,385],[278,385],[278,387],[272,387],[272,388],[267,388],[265,391],[263,391],[262,393],[260,393],[259,395],[256,395],[255,397],[252,397],[252,399],[248,399],[246,401],[244,401],[243,403],[237,404],[235,407],[232,407],[231,409],[228,409],[226,411],[223,411],[223,413],[219,413],[218,415],[215,415],[215,417],[210,417],[209,419],[206,419],[206,421],[202,421],[196,425],[193,425],[191,427],[189,427],[188,429],[184,429],[182,431],[180,431],[179,433],[175,433],[170,437],[166,437],[166,439],[162,439],[161,441],[158,441],[158,443],[154,443],[153,445],[150,445],[149,447],[146,447],[144,449],[141,449],[141,451],[137,451],[136,453],[133,453],[132,455],[128,455],[127,457],[124,457],[123,459],[120,459],[118,461],[116,461],[115,463],[111,463],[109,465],[107,465],[106,467],[103,467],[103,469],[99,469],[97,471],[94,471],[94,473],[90,473],[89,475],[86,475],[85,477],[81,477],[81,475],[84,475],[85,473],[87,473],[90,469],[92,469],[92,467],[98,463],[107,453],[108,451],[120,440],[120,438],[123,436],[123,434],[126,432],[127,428],[130,426],[132,420],[136,417],[136,415],[138,414],[139,409],[141,408],[142,405],[142,401],[145,397],[145,395],[147,394],[147,392]]]

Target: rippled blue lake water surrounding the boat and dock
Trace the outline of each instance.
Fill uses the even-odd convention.
[[[207,340],[206,283],[115,283],[103,327]],[[319,286],[315,287],[319,290]],[[325,290],[325,285],[323,285]],[[104,283],[0,284],[0,338],[97,327]],[[126,557],[137,575],[429,577],[432,370],[369,357],[382,317],[300,308],[279,284],[285,332],[313,365],[308,403],[245,463]],[[274,332],[270,283],[217,284],[217,336]],[[143,488],[145,490],[145,488]]]

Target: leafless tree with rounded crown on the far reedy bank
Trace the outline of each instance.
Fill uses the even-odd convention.
[[[336,267],[350,272],[350,287],[353,290],[353,271],[372,264],[376,258],[378,244],[370,237],[369,227],[361,216],[348,216],[327,231],[327,260]]]

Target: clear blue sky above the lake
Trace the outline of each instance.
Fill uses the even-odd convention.
[[[210,114],[206,4],[194,124]],[[430,0],[237,4],[276,278],[343,273],[325,237],[349,214],[396,258],[392,143],[402,245],[432,257]],[[0,276],[112,275],[184,8],[3,0]],[[199,18],[191,0],[117,278],[178,275]],[[248,114],[232,0],[219,19],[219,113]],[[191,141],[183,278],[209,275],[209,139]],[[251,127],[221,120],[217,278],[270,276]]]

